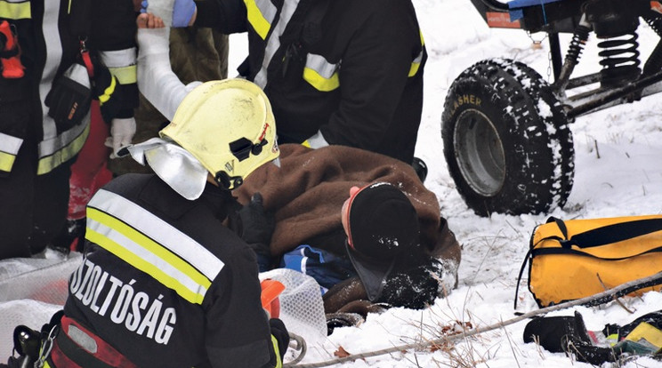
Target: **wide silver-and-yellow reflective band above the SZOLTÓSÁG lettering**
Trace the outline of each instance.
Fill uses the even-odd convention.
[[[202,303],[211,280],[224,266],[222,260],[189,236],[107,190],[101,189],[93,196],[87,218],[88,240],[154,277],[190,303]]]

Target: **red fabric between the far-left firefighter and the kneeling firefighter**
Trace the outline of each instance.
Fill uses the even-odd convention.
[[[76,163],[71,166],[69,179],[69,214],[67,219],[79,220],[85,217],[85,205],[94,192],[113,179],[107,163],[110,148],[104,145],[109,136],[109,126],[101,117],[99,101],[92,101],[90,111],[90,135],[78,154]]]

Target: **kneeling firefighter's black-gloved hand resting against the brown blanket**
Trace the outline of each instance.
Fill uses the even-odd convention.
[[[241,238],[247,244],[262,244],[268,247],[276,224],[273,214],[264,212],[262,195],[255,193],[251,202],[242,207],[238,215],[242,226]]]

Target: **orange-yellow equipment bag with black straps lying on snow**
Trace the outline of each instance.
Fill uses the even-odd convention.
[[[527,263],[529,292],[540,308],[655,275],[662,271],[662,215],[566,221],[551,217],[534,228],[520,279]],[[659,291],[661,284],[656,280],[628,292]]]

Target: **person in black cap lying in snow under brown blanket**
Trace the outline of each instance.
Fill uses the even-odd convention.
[[[456,287],[460,244],[408,164],[343,146],[280,151],[280,167],[256,170],[233,192],[260,271],[315,277],[327,314],[425,308]]]

